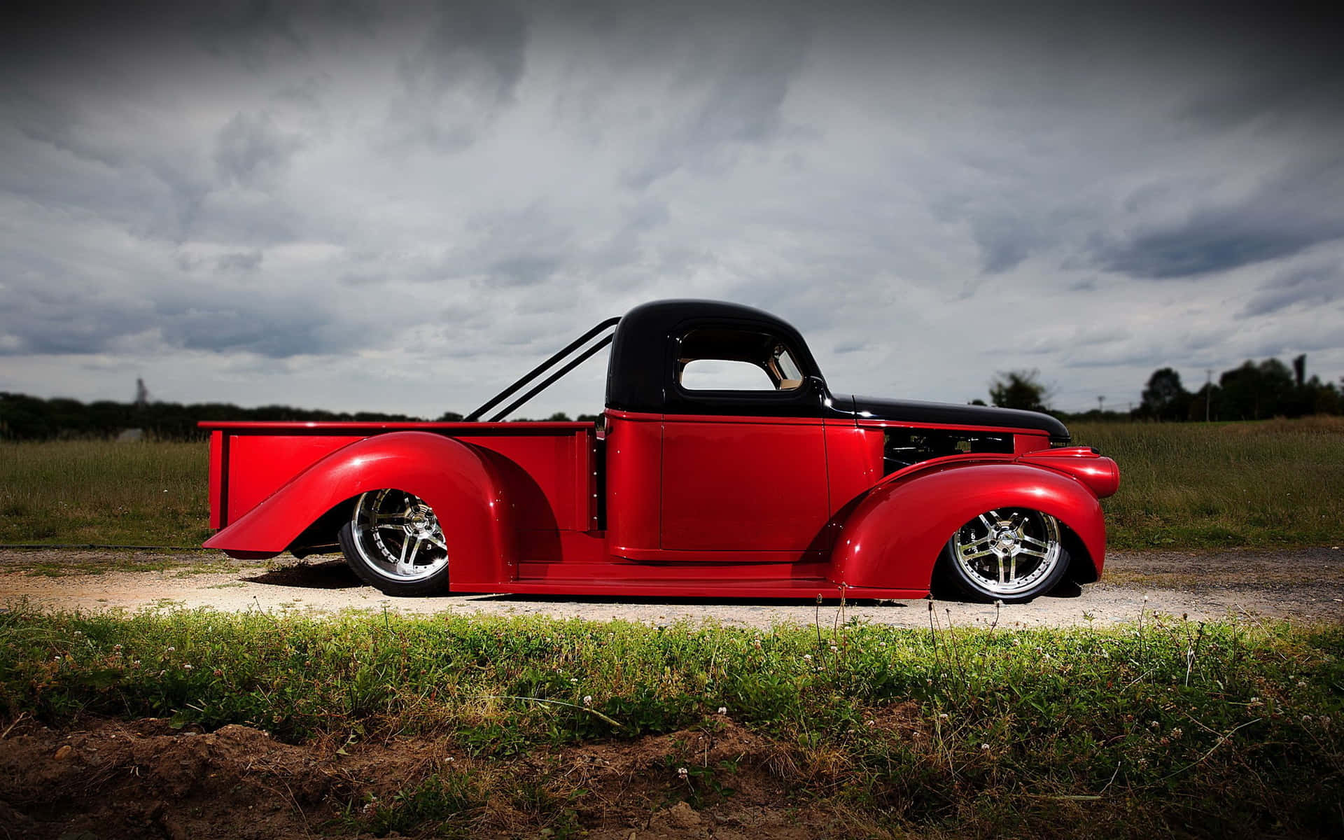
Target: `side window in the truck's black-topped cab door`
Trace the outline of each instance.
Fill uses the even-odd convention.
[[[688,391],[792,391],[802,371],[777,336],[702,328],[677,343],[677,382]]]

